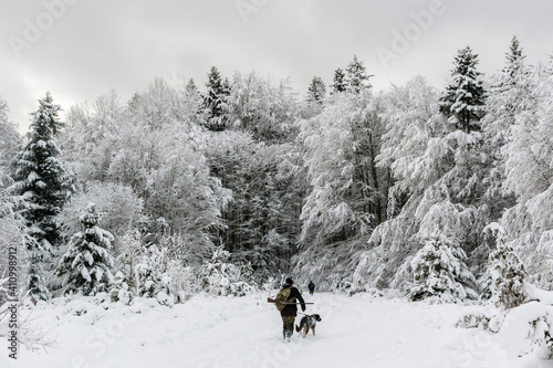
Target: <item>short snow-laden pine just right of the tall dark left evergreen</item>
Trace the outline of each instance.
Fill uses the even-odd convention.
[[[113,235],[98,228],[100,214],[94,203],[80,218],[83,231],[75,233],[58,266],[58,274],[65,277],[66,293],[95,295],[106,292],[113,280],[111,254]]]

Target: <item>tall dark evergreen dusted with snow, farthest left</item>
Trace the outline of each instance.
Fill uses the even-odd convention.
[[[73,179],[60,160],[56,135],[64,126],[50,93],[39,99],[33,114],[27,144],[15,160],[14,190],[23,196],[22,202],[29,242],[29,283],[33,297],[48,298],[44,286],[44,264],[50,264],[48,253],[61,242],[56,215],[73,191]]]

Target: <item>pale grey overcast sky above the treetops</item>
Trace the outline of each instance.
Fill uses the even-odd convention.
[[[379,90],[417,74],[441,88],[467,44],[488,75],[513,35],[546,62],[551,14],[551,0],[0,0],[0,96],[24,133],[46,91],[65,109],[112,88],[124,103],[156,76],[204,87],[212,65],[304,95],[356,54]]]

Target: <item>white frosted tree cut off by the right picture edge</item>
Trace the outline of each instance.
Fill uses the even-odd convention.
[[[553,78],[546,70],[534,74],[535,87],[519,109],[502,146],[505,180],[503,189],[515,196],[517,204],[508,209],[501,224],[508,243],[526,267],[529,280],[544,288],[553,281]]]

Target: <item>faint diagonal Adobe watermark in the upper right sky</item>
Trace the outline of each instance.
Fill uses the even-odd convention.
[[[378,46],[376,54],[385,69],[389,69],[389,63],[397,61],[399,56],[406,53],[411,44],[419,40],[425,31],[428,31],[434,24],[434,20],[446,12],[446,7],[441,0],[431,0],[428,3],[428,10],[419,12],[411,11],[409,18],[413,22],[407,23],[401,31],[392,31],[390,48]]]

